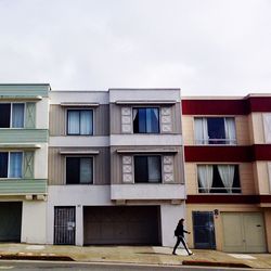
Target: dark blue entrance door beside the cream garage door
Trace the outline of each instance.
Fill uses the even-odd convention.
[[[193,230],[195,248],[216,248],[212,211],[193,211]]]

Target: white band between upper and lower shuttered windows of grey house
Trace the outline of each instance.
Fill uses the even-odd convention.
[[[126,145],[145,145],[145,146],[181,146],[182,136],[181,134],[150,134],[150,133],[132,133],[132,134],[111,134],[109,136],[111,145],[115,146],[126,146]]]

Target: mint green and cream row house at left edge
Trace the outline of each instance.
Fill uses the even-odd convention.
[[[49,85],[0,85],[0,242],[47,242]]]

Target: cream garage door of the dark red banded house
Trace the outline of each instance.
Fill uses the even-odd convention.
[[[264,253],[266,235],[262,214],[224,212],[223,250],[231,253]]]

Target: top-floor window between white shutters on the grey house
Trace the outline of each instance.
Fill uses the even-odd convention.
[[[134,133],[159,132],[159,108],[133,108],[132,117]]]

